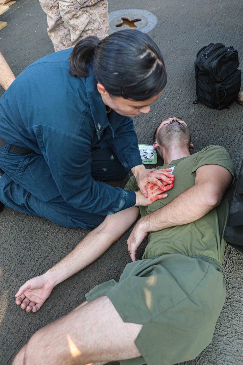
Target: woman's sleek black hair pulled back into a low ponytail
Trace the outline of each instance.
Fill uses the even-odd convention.
[[[121,30],[102,41],[87,37],[70,55],[70,74],[87,77],[93,62],[94,76],[110,95],[148,100],[161,92],[167,81],[163,57],[152,39],[138,30]]]

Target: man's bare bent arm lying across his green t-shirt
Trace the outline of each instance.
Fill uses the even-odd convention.
[[[170,203],[141,218],[128,239],[133,261],[137,247],[148,232],[194,222],[215,208],[232,181],[231,173],[219,165],[203,165],[196,170],[195,185]]]

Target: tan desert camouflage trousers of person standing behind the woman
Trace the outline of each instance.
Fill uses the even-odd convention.
[[[47,14],[47,33],[55,52],[74,47],[81,39],[109,35],[107,0],[40,0]]]

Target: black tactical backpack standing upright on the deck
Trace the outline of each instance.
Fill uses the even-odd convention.
[[[210,43],[200,49],[194,61],[197,104],[200,100],[210,108],[222,109],[238,95],[241,71],[238,52],[222,43]]]

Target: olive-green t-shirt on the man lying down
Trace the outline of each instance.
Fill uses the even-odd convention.
[[[195,222],[150,232],[149,243],[144,251],[143,259],[180,253],[188,256],[212,257],[222,265],[226,245],[223,234],[236,179],[234,164],[224,147],[208,146],[191,156],[174,160],[169,165],[158,166],[156,169],[175,166],[173,170],[174,187],[168,191],[168,197],[157,200],[148,207],[141,206],[140,214],[144,216],[162,208],[176,196],[191,188],[195,185],[196,170],[200,166],[209,164],[223,166],[232,174],[231,187],[224,194],[222,202]],[[126,184],[125,190],[138,190],[134,176]]]

